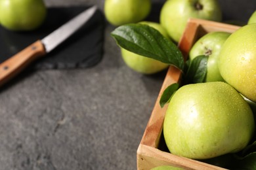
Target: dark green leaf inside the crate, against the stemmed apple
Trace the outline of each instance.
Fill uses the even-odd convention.
[[[207,61],[208,56],[197,56],[192,61],[186,72],[186,83],[198,83],[203,82],[207,73]]]

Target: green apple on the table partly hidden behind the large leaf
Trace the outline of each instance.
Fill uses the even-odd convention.
[[[151,27],[154,27],[155,29],[160,31],[160,33],[164,37],[168,38],[167,32],[165,31],[165,29],[163,29],[163,27],[161,27],[160,24],[156,22],[140,22],[140,24],[150,25]],[[158,73],[160,71],[163,71],[163,69],[166,69],[169,66],[166,63],[162,63],[161,61],[158,61],[156,59],[146,58],[144,56],[140,56],[139,54],[129,52],[124,48],[121,48],[121,56],[123,57],[123,61],[125,61],[125,63],[131,69],[143,74],[149,75],[149,74]]]

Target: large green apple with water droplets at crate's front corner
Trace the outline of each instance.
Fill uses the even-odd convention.
[[[254,131],[253,112],[226,82],[182,86],[171,98],[163,123],[170,152],[199,160],[242,150]]]

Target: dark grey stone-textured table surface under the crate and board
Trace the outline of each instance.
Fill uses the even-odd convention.
[[[104,8],[104,0],[45,3]],[[255,0],[220,3],[230,20],[245,21],[255,10]],[[129,69],[112,30],[107,24],[95,67],[33,71],[0,90],[0,170],[137,169],[137,147],[166,72]]]

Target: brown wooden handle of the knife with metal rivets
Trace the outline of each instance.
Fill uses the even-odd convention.
[[[45,55],[45,47],[39,40],[0,64],[0,86],[11,80],[35,59]]]

